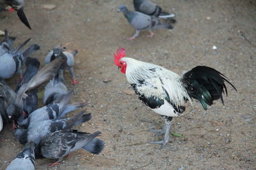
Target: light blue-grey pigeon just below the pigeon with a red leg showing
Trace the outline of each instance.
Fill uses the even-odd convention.
[[[68,89],[65,85],[65,80],[62,75],[57,74],[55,78],[49,81],[47,85],[44,88],[44,97],[43,101],[44,104],[47,105],[49,103],[52,103],[58,97],[60,97],[63,94],[67,94]]]

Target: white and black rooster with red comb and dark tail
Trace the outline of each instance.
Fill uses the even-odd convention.
[[[125,48],[119,48],[114,56],[116,66],[125,74],[140,101],[165,120],[162,130],[151,130],[164,134],[164,139],[150,143],[163,146],[168,143],[172,118],[185,111],[187,101],[196,99],[207,110],[214,100],[221,99],[224,104],[225,81],[236,90],[226,76],[211,67],[197,66],[179,76],[164,67],[125,57]]]

